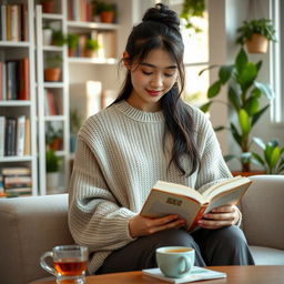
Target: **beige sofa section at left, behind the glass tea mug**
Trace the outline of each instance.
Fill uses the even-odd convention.
[[[74,241],[68,227],[68,194],[0,200],[0,283],[26,284],[48,276],[45,251]]]

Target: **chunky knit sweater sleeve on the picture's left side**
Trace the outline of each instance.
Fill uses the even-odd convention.
[[[122,207],[108,189],[93,149],[79,135],[70,183],[69,226],[74,241],[90,252],[116,250],[132,241]]]

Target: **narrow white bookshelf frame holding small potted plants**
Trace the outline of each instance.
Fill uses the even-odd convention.
[[[42,42],[42,28],[48,23],[55,23],[64,34],[67,33],[67,6],[65,1],[58,2],[57,13],[42,13],[41,6],[36,7],[36,33],[37,33],[37,90],[38,90],[38,129],[39,129],[39,176],[40,176],[40,194],[47,194],[47,169],[45,169],[45,152],[47,141],[45,134],[48,123],[51,123],[53,128],[62,130],[62,149],[55,151],[55,154],[61,158],[60,166],[60,182],[58,184],[58,191],[52,193],[62,193],[68,191],[69,182],[69,98],[68,98],[68,72],[67,72],[67,45],[43,45]],[[62,58],[62,72],[61,80],[59,82],[45,82],[43,78],[44,69],[44,55],[59,54]],[[60,97],[62,113],[55,115],[49,115],[44,113],[44,95],[45,90],[57,91],[57,95]]]

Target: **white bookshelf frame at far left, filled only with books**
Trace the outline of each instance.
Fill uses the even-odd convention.
[[[32,195],[38,195],[38,151],[37,151],[37,124],[36,124],[36,60],[34,60],[34,13],[33,0],[13,1],[12,3],[28,4],[28,41],[0,40],[0,61],[29,59],[29,100],[4,100],[0,101],[0,115],[17,118],[24,115],[30,119],[30,154],[18,156],[0,156],[0,168],[28,166],[31,169]],[[0,0],[0,6],[11,4],[10,1]],[[0,28],[6,29],[1,23]]]

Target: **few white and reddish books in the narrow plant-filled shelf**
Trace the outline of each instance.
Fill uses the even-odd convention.
[[[62,97],[44,89],[44,115],[61,115],[62,112]]]

